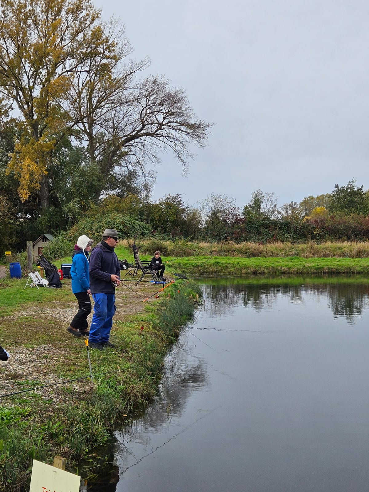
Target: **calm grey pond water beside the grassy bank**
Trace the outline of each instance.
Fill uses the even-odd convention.
[[[368,491],[368,282],[202,287],[156,400],[117,433],[106,490]]]

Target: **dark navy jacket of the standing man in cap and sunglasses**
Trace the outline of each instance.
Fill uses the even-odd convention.
[[[114,248],[105,241],[97,244],[90,253],[90,289],[91,294],[115,294],[110,276],[120,276],[121,267]]]

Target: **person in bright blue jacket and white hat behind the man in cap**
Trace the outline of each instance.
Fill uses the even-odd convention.
[[[92,243],[93,241],[87,236],[80,236],[74,246],[72,257],[70,275],[72,277],[72,292],[78,301],[78,312],[66,331],[75,337],[88,336],[90,334],[87,324],[87,316],[92,309],[88,257]]]

